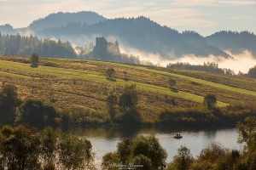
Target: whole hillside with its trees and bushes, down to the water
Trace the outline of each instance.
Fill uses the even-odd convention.
[[[32,67],[30,58],[0,59],[1,124],[235,126],[256,115],[250,78],[93,60],[40,58]],[[9,109],[8,99],[15,101]]]

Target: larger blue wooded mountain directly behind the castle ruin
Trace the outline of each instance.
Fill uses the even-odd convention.
[[[198,37],[201,38],[201,36],[194,31],[186,31],[181,34],[167,26],[160,26],[143,16],[130,19],[104,20],[90,26],[73,22],[67,24],[67,26],[44,29],[44,31],[38,32],[37,35],[39,37],[56,38],[85,35],[91,39],[93,39],[92,35],[113,36],[126,42],[131,48],[150,53],[160,53],[166,58],[181,57],[184,54],[195,54],[195,56],[213,54],[230,57],[221,49],[207,44],[205,40],[198,41]],[[194,43],[194,40],[196,43]]]

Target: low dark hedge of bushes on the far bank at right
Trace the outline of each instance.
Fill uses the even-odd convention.
[[[159,113],[159,123],[184,126],[234,126],[247,116],[256,116],[256,105],[229,105],[208,110],[206,106],[170,108]]]

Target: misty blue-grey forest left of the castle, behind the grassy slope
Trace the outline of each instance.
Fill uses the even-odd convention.
[[[30,56],[34,52],[41,57],[77,58],[70,42],[39,40],[38,37],[21,37],[19,34],[15,36],[0,34],[0,54]]]

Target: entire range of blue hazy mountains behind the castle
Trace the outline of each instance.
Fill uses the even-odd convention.
[[[6,27],[6,26],[5,26]],[[7,26],[10,27],[10,26]],[[0,31],[3,26],[0,26]],[[179,33],[167,26],[160,26],[149,18],[106,19],[95,12],[49,14],[44,19],[34,20],[30,29],[39,38],[79,39],[85,45],[84,38],[95,42],[95,37],[115,37],[120,45],[136,48],[143,52],[160,54],[166,59],[179,58],[188,54],[207,57],[209,55],[230,58],[229,50],[239,54],[251,51],[256,57],[256,36],[248,31],[219,31],[211,36],[202,37],[195,31]],[[84,36],[84,37],[83,37]],[[122,44],[122,42],[124,42]],[[77,44],[76,42],[74,42]]]

